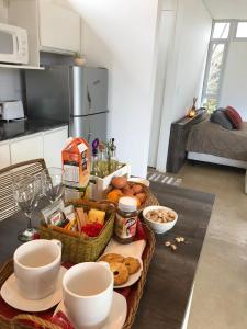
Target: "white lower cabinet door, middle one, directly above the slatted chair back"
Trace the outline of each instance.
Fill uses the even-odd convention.
[[[12,164],[31,159],[43,158],[42,134],[11,139],[10,154]]]

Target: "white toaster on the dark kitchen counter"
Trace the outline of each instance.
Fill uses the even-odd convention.
[[[1,120],[18,120],[24,118],[24,110],[22,101],[4,101],[0,103]]]

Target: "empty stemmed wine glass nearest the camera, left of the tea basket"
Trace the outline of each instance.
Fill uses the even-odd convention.
[[[31,175],[19,175],[13,179],[13,196],[27,217],[27,228],[18,235],[20,241],[26,242],[33,239],[33,236],[37,230],[32,226],[32,212],[35,207],[37,197],[41,192],[41,186]]]

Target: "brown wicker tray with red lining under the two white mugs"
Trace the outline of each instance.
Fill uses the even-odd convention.
[[[136,313],[138,310],[138,305],[143,295],[148,268],[150,264],[150,260],[155,250],[155,235],[154,232],[146,226],[143,225],[146,247],[144,249],[142,259],[143,259],[143,271],[141,279],[131,287],[117,290],[117,293],[121,293],[125,296],[127,302],[127,317],[123,329],[131,329]],[[72,265],[70,263],[70,265]],[[66,266],[69,266],[66,263]],[[8,260],[0,268],[0,287],[5,282],[5,280],[13,273],[13,261]],[[55,307],[48,309],[47,311],[42,313],[32,313],[32,314],[23,314],[18,309],[12,308],[0,297],[0,328],[1,329],[61,329],[60,326],[52,322],[53,313]]]

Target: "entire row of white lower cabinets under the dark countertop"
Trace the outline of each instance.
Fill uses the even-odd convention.
[[[61,168],[61,150],[68,127],[31,134],[0,143],[0,169],[22,161],[44,158],[47,167]]]

